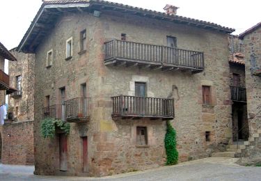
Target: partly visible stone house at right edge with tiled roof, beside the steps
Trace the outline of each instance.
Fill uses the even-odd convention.
[[[239,35],[246,61],[246,98],[250,136],[242,150],[242,164],[261,163],[261,22]]]

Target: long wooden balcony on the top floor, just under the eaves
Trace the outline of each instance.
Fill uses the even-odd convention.
[[[105,65],[139,66],[152,70],[197,73],[204,70],[204,53],[139,42],[111,40],[104,43]]]

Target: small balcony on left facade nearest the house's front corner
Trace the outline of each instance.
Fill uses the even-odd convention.
[[[70,123],[87,122],[90,119],[90,98],[79,97],[65,101],[65,120]]]

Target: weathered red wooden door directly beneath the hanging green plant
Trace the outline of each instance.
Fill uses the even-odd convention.
[[[60,171],[67,171],[67,137],[59,134]]]

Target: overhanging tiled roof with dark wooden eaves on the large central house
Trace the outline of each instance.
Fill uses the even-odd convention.
[[[171,15],[167,13],[158,12],[155,10],[148,10],[134,6],[124,5],[122,3],[113,3],[102,0],[44,0],[42,6],[35,15],[33,22],[26,31],[24,37],[19,43],[17,50],[19,52],[34,53],[35,48],[40,44],[40,41],[45,38],[47,31],[52,29],[56,19],[65,11],[88,11],[94,10],[111,10],[120,13],[130,13],[132,15],[139,15],[141,17],[150,17],[160,19],[177,24],[187,24],[188,26],[196,26],[201,29],[209,29],[212,31],[219,31],[222,33],[232,33],[235,29],[230,29],[212,22],[205,22],[189,17],[182,17],[178,15]]]

